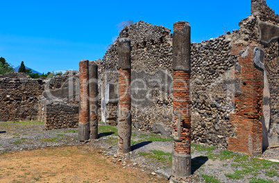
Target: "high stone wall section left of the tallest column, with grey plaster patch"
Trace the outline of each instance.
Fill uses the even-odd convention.
[[[161,121],[169,123],[168,125],[170,127],[172,114],[172,96],[171,92],[169,92],[170,89],[166,89],[166,91],[160,94],[159,89],[153,89],[151,87],[153,83],[147,83],[147,80],[145,80],[144,84],[146,84],[146,89],[143,92],[144,94],[149,92],[149,98],[151,98],[149,100],[144,94],[140,95],[142,98],[139,98],[137,91],[133,90],[133,87],[142,84],[140,81],[135,80],[136,78],[140,80],[144,78],[153,78],[157,71],[160,71],[159,74],[162,78],[168,79],[171,77],[171,62],[169,62],[169,60],[171,60],[172,49],[171,30],[162,26],[152,26],[151,24],[139,21],[129,26],[129,28],[122,30],[119,34],[119,38],[121,37],[129,37],[131,40],[131,95],[132,103],[134,103],[132,106],[133,124],[140,129],[152,129],[154,121]],[[112,44],[107,53],[105,53],[99,67],[101,69],[99,78],[103,83],[103,90],[108,93],[105,101],[110,101],[110,98],[117,98],[117,96],[114,97],[114,94],[117,94],[117,92],[109,91],[110,88],[115,88],[115,90],[117,90],[117,46],[117,42]],[[171,80],[166,80],[166,82],[167,81],[169,81],[169,83],[167,83],[169,86],[166,83],[162,84],[171,88]],[[114,85],[115,87],[108,87],[110,85]],[[150,89],[152,89],[152,91]],[[138,101],[138,103],[135,101]],[[106,119],[108,119],[107,123],[110,124],[110,121],[115,122],[116,112],[114,109],[117,109],[117,102],[106,103],[106,109],[108,110],[108,116],[106,116]]]

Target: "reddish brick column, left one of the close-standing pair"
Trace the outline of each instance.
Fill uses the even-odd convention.
[[[81,60],[79,62],[79,80],[80,80],[80,108],[79,108],[79,118],[78,118],[78,140],[87,141],[90,139],[89,135],[89,87],[88,87],[88,60]]]

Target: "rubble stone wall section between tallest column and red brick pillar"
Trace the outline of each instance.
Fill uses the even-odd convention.
[[[234,34],[234,33],[233,33]],[[230,112],[235,105],[236,80],[230,76],[236,57],[231,55],[233,35],[221,35],[192,44],[191,101],[192,140],[226,146],[235,136]]]

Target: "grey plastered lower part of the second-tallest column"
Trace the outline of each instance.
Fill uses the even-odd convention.
[[[130,112],[127,116],[123,116],[125,119],[118,123],[118,153],[126,154],[130,152],[130,137],[132,134],[132,119]]]

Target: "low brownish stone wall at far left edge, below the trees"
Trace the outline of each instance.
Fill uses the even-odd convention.
[[[0,121],[37,119],[38,96],[44,91],[44,80],[0,78]]]

